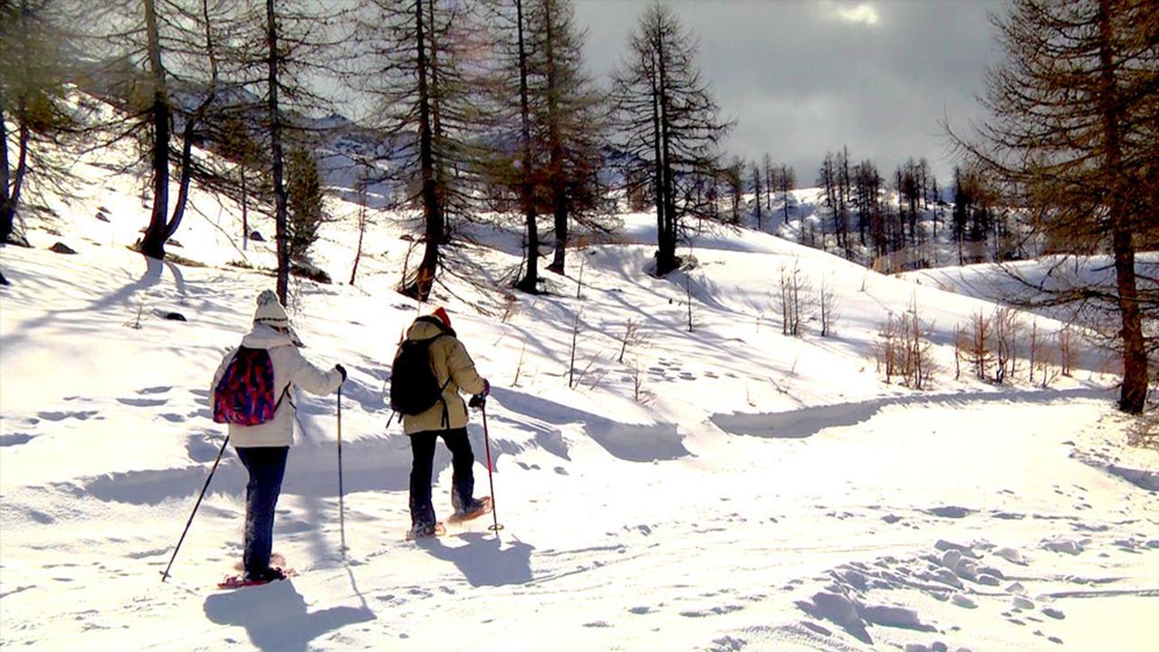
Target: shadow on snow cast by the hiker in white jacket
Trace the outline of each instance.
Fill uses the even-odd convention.
[[[210,622],[243,626],[255,647],[278,652],[305,652],[326,632],[374,620],[365,606],[311,611],[290,579],[216,593],[205,599],[204,609]]]

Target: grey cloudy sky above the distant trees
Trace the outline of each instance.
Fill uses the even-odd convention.
[[[888,175],[926,157],[949,179],[939,119],[978,115],[985,67],[999,58],[987,12],[1000,0],[663,0],[700,43],[700,71],[736,119],[730,153],[796,168],[811,186],[826,151],[848,145]],[[619,65],[650,0],[576,0],[585,57]]]

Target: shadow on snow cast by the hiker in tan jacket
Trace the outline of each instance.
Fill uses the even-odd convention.
[[[431,537],[420,541],[418,546],[431,557],[458,566],[471,586],[523,585],[532,580],[534,546],[516,541],[503,548],[503,542],[489,533],[467,533],[459,538],[467,544],[451,548]]]

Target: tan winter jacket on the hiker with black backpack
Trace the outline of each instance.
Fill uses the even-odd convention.
[[[443,333],[438,326],[429,321],[415,321],[407,331],[408,340],[429,340]],[[433,407],[422,414],[404,414],[402,416],[402,430],[408,435],[423,433],[427,430],[447,430],[467,427],[467,404],[459,396],[459,390],[468,394],[478,394],[483,391],[483,379],[475,371],[475,363],[467,354],[462,342],[454,335],[445,335],[431,343],[431,369],[439,386],[446,384],[443,390],[443,400],[446,401],[447,422],[443,422],[443,401],[437,401]],[[447,382],[450,379],[450,382]]]

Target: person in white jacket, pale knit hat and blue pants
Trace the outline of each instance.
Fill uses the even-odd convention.
[[[280,398],[274,419],[255,426],[229,423],[229,441],[249,472],[242,555],[245,578],[269,581],[285,577],[280,568],[270,567],[270,552],[274,549],[274,514],[282,493],[286,456],[293,444],[293,390],[300,387],[315,394],[331,393],[347,379],[347,370],[341,364],[322,370],[302,357],[298,350],[301,342],[291,328],[277,295],[270,290],[257,296],[254,326],[241,339],[241,346],[269,352],[274,365],[274,391]],[[213,375],[210,405],[214,405],[218,382],[236,353],[238,349],[234,349],[226,354]]]

